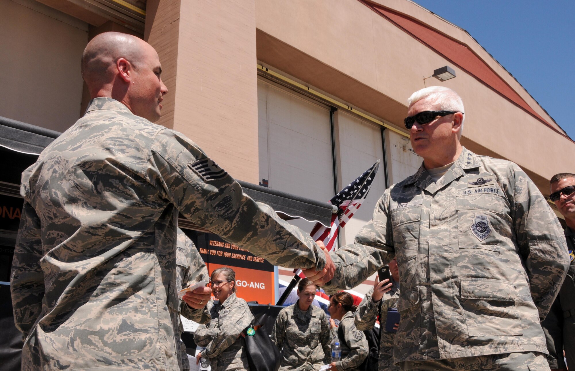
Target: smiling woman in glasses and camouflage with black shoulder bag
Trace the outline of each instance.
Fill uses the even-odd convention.
[[[197,345],[206,347],[213,371],[249,370],[246,354],[240,341],[241,331],[254,319],[246,300],[236,296],[236,272],[231,268],[218,268],[210,277],[213,296],[207,307],[212,320],[201,324],[194,333]]]

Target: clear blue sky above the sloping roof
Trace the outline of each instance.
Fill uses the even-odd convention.
[[[414,0],[465,29],[575,140],[575,0]]]

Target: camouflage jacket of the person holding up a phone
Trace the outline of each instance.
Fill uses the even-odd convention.
[[[394,281],[392,289],[384,293],[384,296],[381,297],[381,301],[374,303],[373,300],[371,300],[371,296],[373,295],[373,287],[371,287],[355,311],[355,326],[362,331],[373,329],[377,316],[379,316],[379,370],[388,369],[389,366],[393,365],[393,341],[395,333],[385,331],[385,323],[388,319],[388,308],[397,308],[399,294],[399,287]],[[379,314],[379,304],[381,304],[381,314]],[[397,368],[397,370],[399,370],[399,368]]]

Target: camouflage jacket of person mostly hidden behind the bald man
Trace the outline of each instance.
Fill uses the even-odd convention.
[[[196,245],[187,237],[181,229],[178,228],[177,235],[177,250],[176,250],[176,287],[186,288],[190,285],[196,284],[201,280],[209,282],[210,276],[208,275],[208,268],[204,264],[204,260],[198,253]],[[190,308],[182,299],[180,301],[179,310],[174,310],[170,307],[170,315],[174,326],[174,336],[176,344],[178,345],[177,351],[180,360],[182,360],[182,370],[190,369],[190,361],[187,359],[186,345],[182,341],[182,320],[180,315],[187,319],[191,319],[198,323],[210,322],[210,312],[208,307],[204,310],[197,310]]]

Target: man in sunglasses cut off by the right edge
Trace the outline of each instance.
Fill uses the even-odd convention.
[[[549,365],[552,370],[575,370],[575,174],[559,173],[551,177],[551,195],[561,215],[565,217],[565,238],[571,264],[559,295],[547,318],[541,323],[547,337]]]

